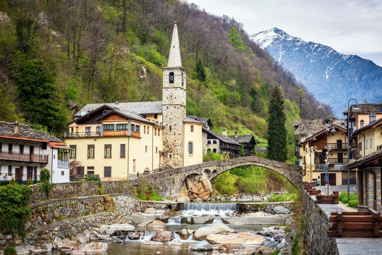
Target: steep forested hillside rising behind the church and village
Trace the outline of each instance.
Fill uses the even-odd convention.
[[[60,134],[75,105],[162,100],[161,68],[175,20],[188,70],[187,114],[264,137],[275,85],[283,88],[289,124],[299,115],[330,114],[250,40],[241,23],[194,4],[0,0],[0,11],[2,121]],[[301,96],[310,104],[299,104]]]

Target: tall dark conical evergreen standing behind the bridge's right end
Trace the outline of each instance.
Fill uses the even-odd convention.
[[[275,86],[270,98],[268,123],[268,159],[287,161],[287,129],[285,128],[284,95],[280,86]]]

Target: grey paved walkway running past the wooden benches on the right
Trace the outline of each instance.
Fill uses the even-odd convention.
[[[324,186],[317,186],[316,189],[320,189],[324,192]],[[356,192],[355,185],[350,185],[350,193]],[[347,186],[332,186],[330,187],[330,194],[333,194],[333,191],[345,191],[347,192]],[[316,196],[312,196],[313,199],[316,199]],[[342,202],[339,202],[339,205],[322,205],[317,204],[326,215],[330,215],[331,212],[337,212],[338,208],[341,208],[343,212],[356,212],[354,208],[344,205]],[[382,255],[382,238],[336,238],[338,254],[339,255],[354,255],[354,254],[379,254]]]

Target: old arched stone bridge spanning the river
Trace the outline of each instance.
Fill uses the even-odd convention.
[[[217,175],[240,166],[261,166],[283,175],[298,190],[301,188],[302,168],[300,166],[287,164],[275,160],[269,160],[257,156],[240,157],[226,160],[210,161],[182,168],[174,168],[157,173],[141,175],[131,180],[132,185],[138,186],[140,183],[147,183],[154,191],[162,195],[163,198],[176,199],[181,193],[181,187],[187,176],[203,172],[207,173],[209,180],[213,180]]]

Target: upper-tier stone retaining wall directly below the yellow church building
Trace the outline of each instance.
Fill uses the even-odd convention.
[[[45,194],[40,192],[38,187],[38,184],[32,186],[31,203],[46,200]],[[115,193],[130,195],[132,190],[133,188],[129,181],[58,183],[53,186],[50,199]]]

